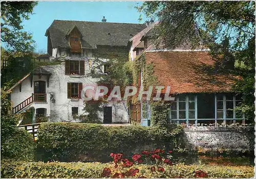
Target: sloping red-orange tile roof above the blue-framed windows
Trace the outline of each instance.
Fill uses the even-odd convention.
[[[172,94],[228,92],[240,78],[214,72],[216,60],[208,52],[146,52],[145,58],[154,64],[158,85],[170,86]]]

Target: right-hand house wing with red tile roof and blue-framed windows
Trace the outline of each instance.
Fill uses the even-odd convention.
[[[143,78],[146,78],[144,84],[148,83],[148,78],[154,78],[155,83],[149,85],[170,86],[175,101],[169,105],[169,122],[195,126],[201,123],[216,126],[244,123],[245,116],[234,110],[241,102],[241,96],[231,92],[232,85],[240,77],[220,73],[218,59],[212,58],[203,46],[191,49],[184,44],[172,50],[157,49],[152,43],[151,33],[155,24],[130,39],[130,50],[136,53],[130,60],[144,61],[144,66],[138,71],[138,88],[143,87]],[[153,66],[151,76],[145,74],[148,65]],[[165,90],[162,90],[163,94]],[[150,106],[148,101],[132,105],[132,119],[150,125]]]

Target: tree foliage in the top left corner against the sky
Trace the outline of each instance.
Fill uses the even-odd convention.
[[[23,19],[28,20],[37,2],[1,2],[1,39],[9,49],[32,52],[32,34],[23,31]]]

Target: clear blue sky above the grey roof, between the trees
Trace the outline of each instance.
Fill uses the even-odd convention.
[[[141,2],[38,2],[34,14],[24,20],[24,30],[33,34],[36,52],[47,52],[46,30],[54,19],[101,21],[105,16],[107,22],[139,22],[139,13],[134,8]]]

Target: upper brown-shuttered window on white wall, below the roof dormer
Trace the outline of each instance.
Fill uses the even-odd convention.
[[[84,61],[83,60],[66,60],[65,74],[84,75]]]

